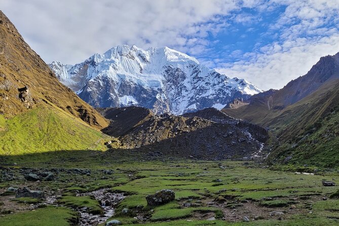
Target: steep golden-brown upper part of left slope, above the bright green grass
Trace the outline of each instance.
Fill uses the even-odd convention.
[[[57,107],[97,128],[107,125],[98,112],[57,80],[0,11],[0,115],[13,117],[40,104]]]

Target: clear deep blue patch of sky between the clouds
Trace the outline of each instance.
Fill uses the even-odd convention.
[[[214,59],[222,59],[222,63],[232,64],[246,60],[248,57],[245,53],[258,51],[260,47],[277,40],[280,30],[273,30],[270,25],[278,21],[285,8],[279,6],[269,11],[243,8],[230,16],[219,18],[220,21],[228,21],[227,28],[217,34],[208,35],[207,39],[213,43],[211,49],[200,56],[198,54],[198,58],[210,67],[218,65],[218,62],[214,62],[210,57],[211,54]]]

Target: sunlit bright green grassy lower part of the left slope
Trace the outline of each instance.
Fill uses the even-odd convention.
[[[40,105],[6,120],[0,117],[0,155],[54,150],[104,150],[106,135],[52,106]]]

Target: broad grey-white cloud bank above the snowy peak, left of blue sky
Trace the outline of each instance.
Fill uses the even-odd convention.
[[[201,52],[208,32],[227,26],[216,16],[235,0],[2,0],[2,10],[44,60],[78,63],[121,45],[169,46]],[[200,39],[190,43],[191,39]],[[200,50],[199,50],[200,49]],[[199,51],[198,51],[199,50]]]

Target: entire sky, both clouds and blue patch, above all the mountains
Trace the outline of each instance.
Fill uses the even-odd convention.
[[[1,0],[46,62],[117,45],[162,47],[257,87],[279,89],[339,52],[337,0]]]

